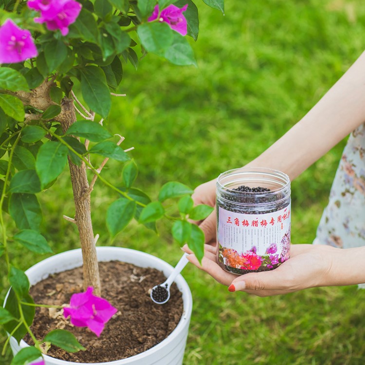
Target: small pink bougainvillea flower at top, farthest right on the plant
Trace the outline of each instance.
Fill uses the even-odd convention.
[[[187,34],[187,23],[186,18],[183,16],[183,12],[187,9],[187,4],[181,9],[175,5],[169,5],[160,14],[160,8],[158,5],[153,9],[152,15],[147,19],[148,21],[153,21],[158,19],[158,21],[167,23],[171,29],[180,33],[182,36]]]

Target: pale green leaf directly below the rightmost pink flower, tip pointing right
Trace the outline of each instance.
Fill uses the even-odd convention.
[[[189,42],[177,32],[174,32],[173,42],[170,47],[164,51],[164,57],[174,65],[197,66],[194,51],[191,48]]]

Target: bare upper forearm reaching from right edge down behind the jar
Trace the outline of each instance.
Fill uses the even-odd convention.
[[[291,180],[365,121],[365,53],[283,137],[247,166],[271,167]]]

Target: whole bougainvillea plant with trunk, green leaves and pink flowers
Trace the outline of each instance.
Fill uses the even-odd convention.
[[[203,1],[223,12],[223,0]],[[167,217],[174,219],[172,236],[202,258],[204,235],[188,219],[204,219],[211,208],[193,206],[193,191],[178,182],[165,183],[158,199],[151,201],[134,187],[137,166],[120,146],[124,138],[103,126],[103,121],[114,123],[109,119],[111,98],[124,95],[117,93],[123,65],[129,62],[137,69],[147,53],[175,65],[196,65],[185,36],[196,40],[198,32],[198,9],[192,0],[0,1],[0,260],[11,286],[5,308],[0,307],[0,324],[18,341],[28,332],[35,343],[20,350],[13,365],[44,364],[42,353],[49,344],[70,352],[83,349],[66,330],[35,338],[30,326],[37,304],[27,276],[12,265],[9,251],[11,242],[37,254],[52,252],[47,233],[40,232],[37,194],[52,189],[66,164],[75,216],[64,218],[77,225],[84,267],[85,292],[73,294],[63,309],[73,325],[99,335],[116,311],[100,297],[91,223],[96,181],[115,192],[105,222],[112,237],[132,219],[156,230],[156,220],[167,217],[164,202],[176,198],[177,214]],[[98,166],[96,156],[104,158]],[[109,159],[123,164],[117,181],[101,174]],[[90,181],[86,169],[93,174]]]

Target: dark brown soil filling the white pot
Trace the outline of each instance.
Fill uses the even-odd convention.
[[[42,339],[52,329],[67,329],[86,351],[67,353],[52,346],[47,355],[76,363],[101,363],[124,359],[163,341],[177,326],[183,314],[182,293],[174,283],[171,298],[163,305],[154,304],[149,289],[166,279],[152,268],[140,268],[119,261],[99,262],[102,297],[118,309],[100,337],[87,328],[78,328],[65,319],[62,309],[36,309],[32,330]],[[34,285],[30,293],[35,303],[63,305],[73,293],[83,292],[82,268],[49,276]],[[29,344],[31,339],[25,338]]]

